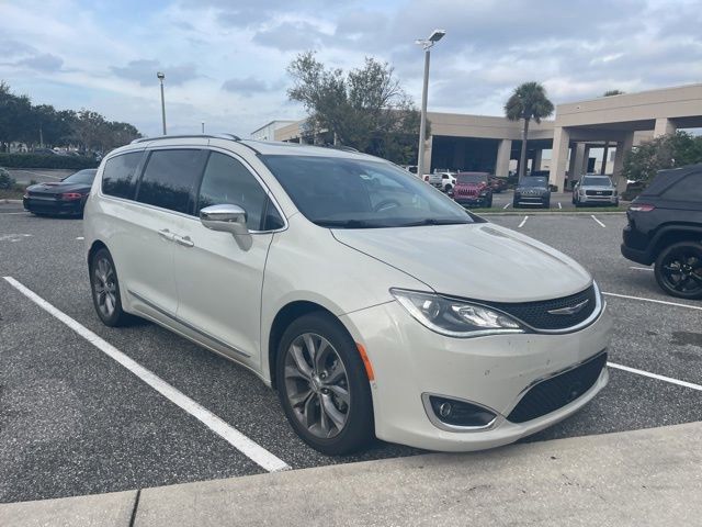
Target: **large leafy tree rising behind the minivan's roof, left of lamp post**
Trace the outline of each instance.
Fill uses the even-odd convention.
[[[344,74],[326,68],[314,52],[299,54],[287,67],[294,80],[287,91],[308,117],[305,134],[315,142],[340,143],[407,164],[417,158],[419,112],[387,63],[366,57],[363,67]]]

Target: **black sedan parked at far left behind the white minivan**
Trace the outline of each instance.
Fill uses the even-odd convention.
[[[82,215],[97,171],[94,168],[89,168],[55,183],[39,183],[27,187],[22,200],[24,209],[37,216],[53,214]]]

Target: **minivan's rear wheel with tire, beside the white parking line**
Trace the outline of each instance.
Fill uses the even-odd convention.
[[[122,309],[120,280],[110,251],[98,250],[90,259],[90,289],[95,312],[105,326],[125,326],[134,317]]]

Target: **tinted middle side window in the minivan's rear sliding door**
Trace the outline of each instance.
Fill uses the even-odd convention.
[[[202,164],[202,150],[154,150],[139,182],[137,201],[188,213]]]

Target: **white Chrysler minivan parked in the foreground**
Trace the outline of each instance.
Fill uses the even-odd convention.
[[[138,139],[101,162],[84,228],[104,324],[147,318],[249,368],[325,453],[505,445],[608,381],[582,267],[383,159]]]

